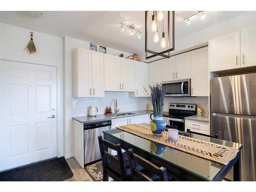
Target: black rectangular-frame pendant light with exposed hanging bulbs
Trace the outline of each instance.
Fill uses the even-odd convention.
[[[150,59],[155,56],[162,56],[165,58],[170,57],[170,51],[173,51],[175,49],[175,12],[172,11],[172,47],[170,47],[170,11],[167,11],[167,18],[164,19],[164,11],[153,11],[152,20],[151,20],[151,31],[149,33],[153,32],[153,41],[155,43],[158,43],[160,40],[159,47],[161,49],[165,49],[167,47],[167,50],[163,50],[161,52],[153,51],[147,48],[147,42],[148,42],[148,31],[147,31],[147,13],[148,11],[145,11],[145,58]],[[161,39],[159,39],[158,29],[159,24],[157,23],[157,20],[161,20],[159,24],[162,24],[162,33],[161,33]],[[167,32],[164,31],[164,22],[167,20]],[[166,32],[166,33],[165,33]],[[167,34],[167,42],[165,38],[165,34]],[[148,56],[147,54],[150,53],[151,55]],[[167,54],[166,54],[167,53]]]

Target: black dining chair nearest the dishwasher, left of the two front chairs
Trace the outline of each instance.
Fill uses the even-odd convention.
[[[130,161],[127,152],[122,153],[120,144],[98,137],[99,148],[103,167],[103,181],[109,181],[111,177],[114,181],[131,181]],[[114,156],[109,153],[109,149],[117,151]]]

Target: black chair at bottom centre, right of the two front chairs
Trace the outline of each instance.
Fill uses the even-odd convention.
[[[165,167],[158,167],[136,155],[131,148],[128,150],[128,155],[133,181],[177,181],[167,174]]]

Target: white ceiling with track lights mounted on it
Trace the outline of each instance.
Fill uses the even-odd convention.
[[[139,53],[144,56],[144,11],[45,11],[39,18],[31,16],[29,11],[0,11],[0,22],[34,31],[64,37],[69,36],[80,40],[94,42],[98,45],[122,50],[127,53]],[[242,11],[206,11],[205,19],[200,15],[190,19],[186,25],[184,17],[193,11],[175,12],[175,38],[216,25],[231,17],[238,16]],[[148,14],[149,19],[151,14]],[[119,22],[135,25],[142,36],[130,35],[129,30],[122,32]],[[156,47],[159,45],[155,44]]]

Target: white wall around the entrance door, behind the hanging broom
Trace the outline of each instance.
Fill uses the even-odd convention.
[[[34,32],[37,52],[24,51],[30,30],[0,23],[0,59],[57,67],[58,157],[63,156],[63,39]]]

